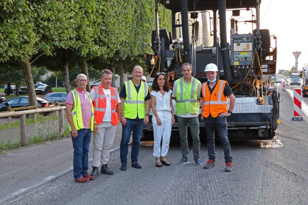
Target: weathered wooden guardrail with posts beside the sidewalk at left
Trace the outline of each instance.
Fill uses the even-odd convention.
[[[27,136],[26,136],[26,115],[27,114],[36,114],[41,112],[52,112],[56,111],[59,112],[59,132],[61,133],[62,137],[64,137],[64,110],[66,106],[52,106],[52,108],[42,108],[42,109],[34,109],[34,110],[24,110],[24,111],[10,111],[10,112],[1,112],[0,118],[3,117],[13,117],[13,116],[20,116],[21,122],[21,145],[22,147],[27,145]],[[34,115],[36,117],[36,115]]]

